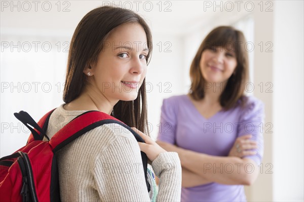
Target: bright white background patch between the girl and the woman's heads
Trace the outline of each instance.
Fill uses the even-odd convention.
[[[183,44],[179,36],[153,35],[153,54],[146,76],[150,135],[156,139],[164,98],[185,93],[183,82]]]

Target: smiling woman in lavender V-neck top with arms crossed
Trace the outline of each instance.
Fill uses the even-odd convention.
[[[179,154],[182,201],[246,201],[243,185],[263,155],[263,103],[244,95],[248,56],[241,31],[213,29],[191,64],[187,95],[163,101],[158,141]]]

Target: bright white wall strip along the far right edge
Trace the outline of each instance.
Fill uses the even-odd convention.
[[[303,1],[276,1],[273,53],[273,194],[303,201]]]

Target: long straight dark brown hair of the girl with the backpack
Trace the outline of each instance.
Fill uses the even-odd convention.
[[[63,93],[63,101],[69,103],[78,96],[86,85],[84,69],[91,63],[96,63],[100,51],[103,49],[104,40],[109,32],[125,23],[140,24],[147,37],[149,53],[146,57],[147,64],[152,51],[151,31],[142,17],[133,11],[104,6],[96,8],[86,14],[78,24],[71,39],[67,61],[67,71]],[[130,127],[148,133],[145,79],[141,85],[138,96],[134,101],[119,101],[112,114]]]

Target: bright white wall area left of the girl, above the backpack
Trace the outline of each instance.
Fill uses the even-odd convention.
[[[55,36],[2,34],[1,156],[24,146],[29,135],[29,130],[15,118],[14,112],[28,111],[38,121],[62,102],[67,53],[62,52],[62,47],[58,50],[55,44],[66,40]],[[39,42],[40,46],[37,44],[35,50],[32,42]],[[9,48],[5,48],[7,43]],[[43,43],[46,46],[42,49]],[[16,47],[11,49],[12,45]]]

